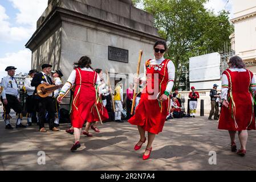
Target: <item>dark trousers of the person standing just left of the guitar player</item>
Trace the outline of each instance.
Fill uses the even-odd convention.
[[[32,118],[32,122],[37,122],[36,111],[38,110],[38,100],[35,100],[33,96],[27,95],[26,107],[27,117]]]

